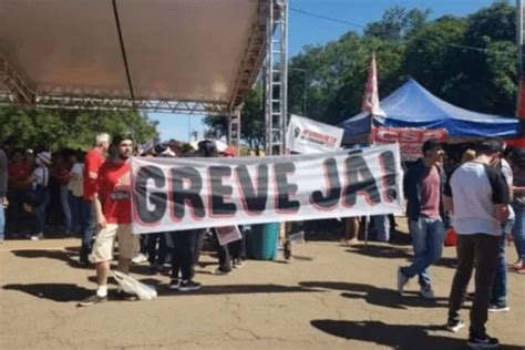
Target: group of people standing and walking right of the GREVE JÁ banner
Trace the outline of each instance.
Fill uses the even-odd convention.
[[[398,290],[403,294],[409,279],[418,276],[421,296],[434,298],[429,268],[441,258],[445,230],[453,227],[457,267],[446,328],[457,332],[464,327],[460,311],[469,296],[473,301],[469,347],[497,348],[498,340],[486,333],[485,323],[488,312],[509,311],[505,246],[511,233],[517,250],[514,267],[525,272],[525,150],[505,150],[503,142],[486,140],[464,153],[463,164],[446,171],[440,143],[429,140],[422,152],[423,158],[404,178],[414,260],[398,268]],[[474,268],[475,290],[467,295]]]

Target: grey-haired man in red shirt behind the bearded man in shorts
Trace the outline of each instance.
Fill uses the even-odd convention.
[[[95,146],[91,148],[84,157],[83,171],[83,189],[84,206],[81,219],[82,246],[80,248],[79,264],[89,265],[89,255],[91,253],[91,244],[93,235],[96,231],[96,222],[94,213],[92,213],[92,202],[96,192],[96,182],[99,178],[99,168],[105,162],[104,154],[110,148],[110,135],[100,133],[95,137]]]

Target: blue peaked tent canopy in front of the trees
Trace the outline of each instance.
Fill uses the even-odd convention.
[[[437,99],[416,81],[404,85],[384,97],[381,107],[385,117],[360,113],[339,124],[344,128],[343,142],[363,140],[370,125],[390,127],[445,128],[451,141],[478,137],[517,137],[519,121],[515,117],[482,114],[456,107]]]

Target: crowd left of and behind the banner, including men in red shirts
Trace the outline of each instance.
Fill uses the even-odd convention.
[[[112,142],[109,134],[101,133],[86,153],[63,150],[51,154],[44,150],[16,148],[8,152],[8,157],[0,150],[0,199],[2,209],[7,209],[6,216],[3,210],[0,213],[1,241],[4,227],[9,238],[39,240],[48,234],[53,237],[80,236],[78,264],[94,264],[99,285],[95,296],[81,301],[81,306],[107,299],[107,276],[115,241],[119,241],[120,271],[127,274],[132,260],[141,262],[141,257],[144,257],[150,261],[151,274],[166,272],[166,267],[171,266],[169,288],[181,291],[200,288],[194,276],[205,237],[209,237],[217,249],[216,275],[227,275],[233,268],[245,265],[245,236],[249,226],[240,227],[241,239],[224,246],[219,245],[214,228],[141,237],[131,231],[127,162],[131,155],[235,156],[237,150],[234,147],[218,152],[216,144],[206,140],[198,143],[198,150],[193,150],[172,140],[141,148],[130,135],[119,135]],[[3,225],[4,218],[8,225]],[[122,290],[117,296],[134,298]]]

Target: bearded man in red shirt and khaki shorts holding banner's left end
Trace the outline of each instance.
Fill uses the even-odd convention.
[[[115,137],[116,155],[106,161],[97,174],[97,189],[93,198],[99,234],[92,258],[96,267],[96,294],[79,303],[91,306],[107,300],[107,276],[113,259],[115,239],[119,240],[116,269],[128,274],[131,259],[138,253],[138,238],[131,230],[131,173],[128,158],[133,152],[130,135]],[[124,296],[123,291],[119,291]]]

